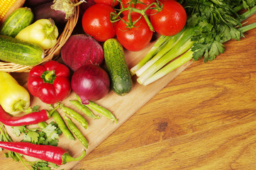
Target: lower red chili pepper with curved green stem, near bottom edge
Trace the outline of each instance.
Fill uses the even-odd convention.
[[[66,164],[71,161],[79,161],[85,156],[85,151],[83,151],[82,156],[74,158],[62,147],[36,145],[29,142],[0,142],[0,147],[11,152],[25,154],[57,165]]]

